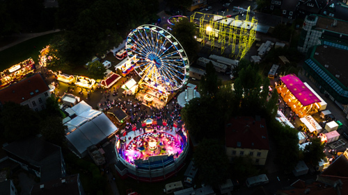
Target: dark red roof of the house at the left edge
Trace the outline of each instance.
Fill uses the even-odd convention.
[[[28,99],[42,94],[49,90],[49,87],[45,83],[41,74],[34,74],[29,78],[19,81],[16,84],[10,85],[0,91],[0,103],[6,103],[7,101],[13,101],[15,103],[22,103]],[[32,94],[31,94],[32,93]]]

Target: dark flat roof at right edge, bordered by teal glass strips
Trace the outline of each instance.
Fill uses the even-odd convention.
[[[318,53],[319,55],[314,55],[313,58],[315,58],[315,60],[317,60],[333,76],[339,75],[340,78],[335,78],[337,78],[347,87],[348,69],[346,62],[348,62],[348,51],[344,49],[337,49],[332,46],[321,45],[317,46],[315,53]]]

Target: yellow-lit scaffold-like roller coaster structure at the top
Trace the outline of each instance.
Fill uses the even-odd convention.
[[[255,17],[249,20],[250,12],[249,6],[245,20],[239,20],[238,15],[232,19],[221,15],[194,12],[190,20],[199,26],[203,45],[209,44],[211,50],[221,49],[221,54],[225,52],[226,47],[232,46],[231,58],[240,60],[253,44],[258,26],[258,20]]]

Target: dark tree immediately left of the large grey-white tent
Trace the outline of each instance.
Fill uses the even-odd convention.
[[[58,146],[63,145],[66,130],[68,127],[63,125],[61,117],[46,117],[40,123],[40,133],[48,142]]]

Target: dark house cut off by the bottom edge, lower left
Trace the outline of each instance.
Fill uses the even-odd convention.
[[[31,187],[30,195],[84,195],[79,173],[64,178],[38,183]]]

